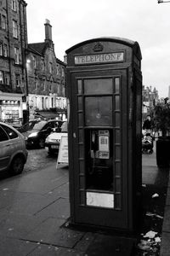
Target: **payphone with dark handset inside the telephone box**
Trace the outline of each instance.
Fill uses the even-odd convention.
[[[110,132],[108,130],[91,131],[91,158],[110,158]]]

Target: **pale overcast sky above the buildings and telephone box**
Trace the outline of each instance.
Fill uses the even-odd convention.
[[[128,38],[139,43],[143,84],[168,96],[170,86],[170,3],[157,0],[26,0],[28,43],[45,39],[50,20],[55,55],[100,37]]]

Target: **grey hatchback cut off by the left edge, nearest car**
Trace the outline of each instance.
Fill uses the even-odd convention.
[[[27,160],[25,137],[11,125],[0,122],[0,172],[20,174]]]

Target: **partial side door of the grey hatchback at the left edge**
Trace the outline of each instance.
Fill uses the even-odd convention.
[[[7,133],[0,125],[0,171],[6,170],[10,161],[12,146]]]

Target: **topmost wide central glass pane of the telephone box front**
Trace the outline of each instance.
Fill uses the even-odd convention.
[[[85,79],[84,94],[112,94],[112,79]]]

